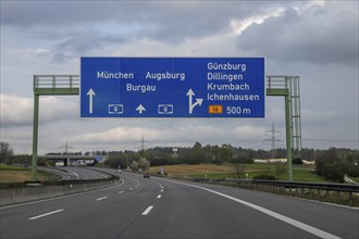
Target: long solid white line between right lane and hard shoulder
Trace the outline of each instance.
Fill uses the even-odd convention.
[[[166,180],[166,181],[170,181],[170,180]],[[185,186],[189,186],[189,187],[194,187],[194,188],[199,188],[199,189],[202,189],[202,190],[205,190],[205,191],[209,191],[209,192],[212,192],[212,193],[214,193],[214,194],[221,196],[221,197],[223,197],[223,198],[226,198],[226,199],[233,200],[233,201],[235,201],[235,202],[238,202],[238,203],[240,203],[240,204],[244,204],[244,205],[247,205],[247,206],[249,206],[249,207],[251,207],[251,209],[255,209],[255,210],[257,210],[257,211],[259,211],[259,212],[261,212],[261,213],[264,213],[264,214],[267,214],[267,215],[269,215],[269,216],[272,216],[272,217],[274,217],[274,218],[276,218],[276,219],[280,219],[280,221],[282,221],[282,222],[284,222],[284,223],[287,223],[287,224],[289,224],[289,225],[292,225],[292,226],[295,226],[295,227],[297,227],[297,228],[299,228],[299,229],[302,229],[302,230],[308,231],[308,232],[310,232],[310,234],[312,234],[312,235],[315,235],[315,236],[318,236],[318,237],[320,237],[320,238],[341,239],[341,237],[337,237],[337,236],[332,235],[332,234],[330,234],[330,232],[326,232],[326,231],[324,231],[324,230],[321,230],[321,229],[318,229],[318,228],[315,228],[315,227],[309,226],[309,225],[304,224],[304,223],[301,223],[301,222],[299,222],[299,221],[296,221],[296,219],[293,219],[293,218],[290,218],[290,217],[287,217],[287,216],[281,215],[281,214],[278,214],[278,213],[275,213],[275,212],[270,211],[270,210],[268,210],[268,209],[264,209],[264,207],[262,207],[262,206],[259,206],[259,205],[252,204],[252,203],[250,203],[250,202],[247,202],[247,201],[244,201],[244,200],[240,200],[240,199],[234,198],[234,197],[232,197],[232,196],[224,194],[224,193],[222,193],[222,192],[218,192],[218,191],[214,191],[214,190],[211,190],[211,189],[208,189],[208,188],[203,188],[203,187],[200,187],[200,186],[197,186],[197,185],[190,185],[190,184],[185,184],[185,183],[180,183],[180,181],[170,181],[170,183],[180,184],[180,185],[185,185]]]

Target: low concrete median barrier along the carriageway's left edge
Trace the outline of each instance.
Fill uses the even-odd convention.
[[[108,188],[121,183],[119,180],[108,181],[77,181],[76,184],[55,185],[55,186],[33,186],[24,188],[12,188],[0,190],[0,206],[32,202],[37,200],[57,198],[78,192],[92,191],[96,189]]]

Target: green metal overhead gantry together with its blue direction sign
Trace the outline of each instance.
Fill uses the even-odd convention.
[[[264,116],[264,59],[263,58],[259,58],[259,59],[258,58],[255,59],[205,58],[205,59],[194,59],[194,61],[185,58],[157,59],[159,61],[163,60],[163,62],[166,61],[172,62],[171,71],[164,68],[164,71],[169,71],[169,74],[176,72],[184,73],[185,77],[184,80],[181,80],[181,74],[176,75],[177,79],[180,79],[177,81],[181,83],[178,85],[176,85],[177,84],[176,80],[164,80],[164,83],[168,83],[166,85],[168,88],[165,88],[161,86],[161,81],[162,79],[170,78],[170,76],[169,77],[166,76],[168,75],[166,72],[164,72],[164,75],[163,73],[160,75],[154,74],[153,77],[156,77],[157,80],[154,80],[152,77],[149,78],[150,75],[148,75],[147,78],[148,80],[145,80],[148,74],[148,72],[146,72],[145,76],[143,76],[143,78],[139,80],[144,80],[144,83],[146,83],[150,87],[156,86],[154,91],[148,91],[148,92],[152,92],[152,98],[146,98],[146,97],[143,98],[144,95],[146,96],[147,91],[143,92],[141,90],[137,90],[137,91],[129,90],[129,86],[127,86],[126,84],[132,84],[133,86],[135,83],[137,83],[136,81],[137,79],[135,80],[136,72],[133,72],[133,75],[129,75],[129,73],[132,73],[131,72],[132,68],[122,68],[123,60],[126,61],[140,60],[143,61],[143,63],[137,66],[138,68],[141,68],[143,73],[139,72],[138,74],[144,75],[144,72],[148,71],[147,61],[149,61],[150,59],[138,59],[138,58],[117,59],[117,63],[112,63],[112,67],[115,66],[116,67],[115,71],[117,72],[113,72],[113,75],[111,77],[107,77],[106,75],[109,74],[110,76],[110,71],[113,70],[111,70],[111,67],[109,68],[109,65],[103,63],[103,65],[101,66],[101,67],[106,67],[104,70],[102,70],[104,71],[103,74],[99,72],[99,76],[97,76],[97,72],[96,72],[95,78],[92,79],[91,77],[94,76],[91,75],[94,75],[94,71],[100,71],[97,70],[98,65],[95,64],[96,63],[95,61],[92,61],[98,58],[83,58],[82,62],[84,63],[86,59],[90,60],[91,63],[90,64],[86,63],[87,64],[86,67],[88,68],[89,73],[84,72],[85,68],[82,68],[81,71],[82,79],[78,75],[35,75],[34,76],[34,127],[33,127],[34,131],[33,131],[32,180],[36,180],[38,115],[39,115],[40,96],[78,96],[79,91],[82,91],[82,96],[81,96],[82,117],[110,117],[110,116],[112,117],[114,115],[117,117],[132,117],[132,116],[134,117],[141,117],[141,116],[143,117],[161,117],[161,116],[162,117],[163,116],[166,117],[170,116],[172,117],[263,117]],[[106,59],[108,58],[99,58],[99,60],[106,60]],[[109,62],[115,60],[116,58],[111,58],[109,59]],[[119,60],[122,61],[121,64]],[[184,72],[182,72],[180,71],[181,68],[178,70],[177,67],[174,67],[177,64],[177,60],[189,61],[186,63],[188,64],[185,67],[186,71],[183,70]],[[227,63],[237,64],[238,67],[235,70],[234,67],[228,66]],[[240,65],[245,64],[245,66],[239,66],[239,64]],[[164,67],[164,66],[159,66],[159,67]],[[169,65],[166,65],[166,67],[169,67]],[[106,71],[108,72],[106,73]],[[126,73],[127,75],[125,75]],[[227,74],[227,77],[226,78],[223,77],[223,79],[220,79],[220,77],[218,79],[216,78],[214,79],[214,75],[216,75],[215,73],[219,75],[221,75],[221,73]],[[87,77],[88,74],[89,77]],[[238,76],[237,79],[234,79],[235,74],[242,76],[240,77]],[[132,77],[133,80],[128,83],[120,81],[120,79],[117,79],[117,77],[120,76],[121,78],[127,77],[128,80]],[[98,78],[101,78],[101,80],[99,80]],[[298,155],[301,149],[299,77],[268,75],[265,76],[265,78],[267,78],[265,95],[274,96],[274,97],[284,97],[285,99],[284,101],[285,101],[288,180],[293,180],[292,159],[294,155]],[[108,81],[112,83],[112,85],[109,86]],[[218,85],[218,87],[213,87],[213,85],[211,85],[212,83],[213,85]],[[159,86],[157,84],[159,84]],[[112,89],[110,89],[111,86],[113,87]],[[143,85],[138,84],[138,86],[143,86]],[[159,88],[157,88],[157,86]],[[233,87],[237,87],[238,89],[237,90],[232,89]],[[154,92],[157,92],[157,89],[160,88],[161,90],[159,90],[159,92],[161,91],[164,92],[161,92],[159,93],[158,97],[156,97]],[[109,90],[108,91],[109,96],[103,96],[107,95],[107,91],[103,90]],[[193,95],[191,91],[193,93],[196,92],[196,95]],[[115,93],[115,98],[111,96],[113,93]],[[174,96],[174,93],[176,96]],[[235,93],[247,95],[247,96],[258,95],[259,99],[256,100],[257,99],[256,97],[249,97],[249,98],[244,97],[242,100],[239,100],[240,99],[239,97],[238,99],[236,98],[225,99],[225,96],[231,96]],[[211,98],[212,95],[219,95],[219,96],[221,95],[221,96],[215,99],[214,98],[212,99]],[[98,98],[95,99],[95,97]],[[117,101],[112,102],[111,97],[113,98],[113,101],[114,100]],[[132,101],[128,102],[129,99]],[[161,99],[161,101],[159,101],[159,99]],[[163,103],[164,101],[162,102],[162,99],[166,99],[168,101]],[[180,101],[176,102],[175,99],[180,99]],[[231,104],[227,104],[226,101],[231,102]],[[172,102],[173,102],[172,106],[168,105]],[[133,106],[131,106],[131,103],[133,104]],[[141,106],[139,106],[138,103],[141,104]],[[181,109],[181,106],[177,105],[177,103],[178,104],[183,103],[185,105],[182,111],[177,112],[177,110]],[[123,104],[123,106],[121,108],[119,106],[119,104]],[[138,106],[134,109],[137,104]],[[145,104],[147,109],[145,108]],[[246,114],[233,114],[231,112],[231,108],[233,105],[234,108],[237,109],[239,108],[240,110],[249,109],[250,111],[248,110],[243,111],[246,112]],[[127,113],[127,110],[131,109],[132,111],[128,111],[129,113]]]

